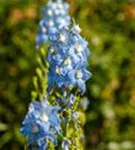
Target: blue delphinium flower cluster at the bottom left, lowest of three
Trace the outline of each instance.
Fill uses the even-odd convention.
[[[22,123],[21,132],[27,137],[27,144],[34,150],[47,149],[47,140],[57,144],[56,134],[60,133],[59,107],[51,106],[47,100],[35,101],[29,106],[29,111]]]

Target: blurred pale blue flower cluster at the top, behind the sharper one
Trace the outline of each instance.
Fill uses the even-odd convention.
[[[58,29],[70,24],[68,8],[69,5],[62,0],[57,0],[56,2],[50,0],[43,8],[43,18],[39,23],[39,30],[36,38],[37,48],[50,40]]]

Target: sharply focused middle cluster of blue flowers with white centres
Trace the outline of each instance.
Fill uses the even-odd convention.
[[[91,73],[86,69],[89,55],[88,43],[79,34],[80,28],[74,24],[58,30],[49,47],[49,86],[58,88],[79,87],[85,92],[85,82]]]

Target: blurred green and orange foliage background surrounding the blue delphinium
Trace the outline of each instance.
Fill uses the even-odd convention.
[[[89,41],[86,150],[135,150],[135,2],[69,0]],[[45,0],[0,2],[0,149],[21,150]]]

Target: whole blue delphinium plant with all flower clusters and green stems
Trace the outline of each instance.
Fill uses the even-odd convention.
[[[46,74],[43,78],[48,82],[42,82],[48,83],[48,91],[45,88],[40,93],[38,88],[43,85],[38,86],[40,83],[36,82],[37,93],[34,94],[39,95],[40,99],[47,94],[50,101],[32,102],[22,123],[21,132],[27,137],[28,147],[32,150],[52,149],[49,147],[50,141],[58,144],[57,149],[83,147],[80,143],[83,125],[80,123],[80,92],[83,94],[86,91],[85,83],[91,77],[87,70],[90,51],[87,41],[80,35],[79,26],[71,23],[68,8],[68,4],[62,0],[50,0],[42,11],[36,46],[39,48],[49,41],[45,58],[49,64],[46,67],[49,68],[40,63],[42,69],[48,72],[43,71]],[[40,73],[38,75],[41,77]],[[51,89],[55,90],[50,92]]]

